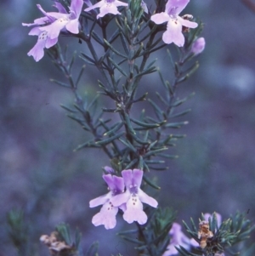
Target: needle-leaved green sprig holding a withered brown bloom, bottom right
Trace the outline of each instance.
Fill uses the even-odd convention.
[[[185,229],[200,247],[196,247],[194,253],[187,251],[184,247],[176,247],[178,252],[184,256],[217,256],[223,255],[221,253],[225,252],[230,255],[238,255],[240,252],[235,250],[235,245],[247,240],[252,230],[255,229],[255,225],[252,226],[251,221],[246,219],[243,213],[235,213],[234,216],[230,216],[220,225],[216,213],[212,214],[212,218],[209,218],[208,222],[201,214],[199,229],[192,218],[190,218],[190,222],[191,228],[184,222]],[[208,226],[208,230],[204,225]],[[207,236],[209,232],[212,233],[212,236]]]

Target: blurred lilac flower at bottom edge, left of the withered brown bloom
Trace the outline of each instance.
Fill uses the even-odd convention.
[[[170,256],[178,253],[178,250],[175,248],[180,245],[186,250],[190,249],[190,239],[184,235],[181,230],[181,225],[178,223],[173,223],[171,230],[169,231],[170,243],[167,246],[167,251],[162,256]]]

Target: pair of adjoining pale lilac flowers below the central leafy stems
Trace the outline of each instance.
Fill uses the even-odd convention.
[[[153,208],[157,207],[157,202],[140,189],[143,174],[142,170],[128,169],[122,171],[122,177],[111,174],[103,175],[110,192],[89,202],[90,208],[103,205],[100,212],[92,219],[95,226],[105,225],[107,230],[114,228],[118,208],[124,212],[123,219],[127,223],[133,223],[133,221],[137,221],[140,225],[146,223],[147,215],[143,211],[143,202]]]

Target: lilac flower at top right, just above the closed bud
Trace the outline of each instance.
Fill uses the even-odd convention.
[[[197,23],[178,16],[189,2],[190,0],[168,0],[165,12],[151,16],[151,20],[156,24],[167,22],[167,31],[162,36],[164,43],[175,43],[178,47],[184,46],[183,26],[190,28],[197,26]]]

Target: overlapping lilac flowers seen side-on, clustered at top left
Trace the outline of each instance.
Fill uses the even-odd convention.
[[[35,26],[29,32],[31,36],[38,36],[36,45],[28,52],[28,56],[33,56],[34,60],[41,60],[44,55],[44,48],[50,48],[58,42],[60,31],[69,31],[73,34],[79,32],[79,17],[82,12],[82,0],[72,0],[69,13],[61,3],[55,2],[56,12],[45,12],[40,4],[37,8],[44,17],[34,20],[34,23],[22,23],[23,26]]]

